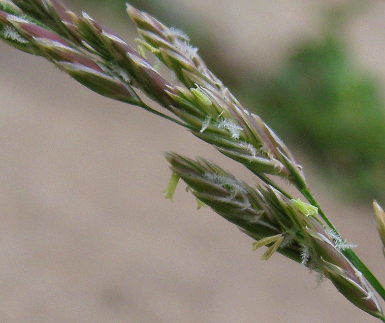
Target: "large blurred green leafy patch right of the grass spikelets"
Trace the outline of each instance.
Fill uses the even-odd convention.
[[[254,99],[274,129],[306,148],[329,184],[339,183],[354,199],[384,201],[385,105],[379,82],[353,65],[339,38],[302,43]]]

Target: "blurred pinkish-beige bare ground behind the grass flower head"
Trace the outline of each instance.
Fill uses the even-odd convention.
[[[229,61],[250,69],[275,68],[298,35],[319,28],[318,1],[161,2],[215,28]],[[128,36],[108,7],[76,8]],[[373,2],[346,28],[352,57],[380,77],[384,16]],[[247,171],[181,127],[0,46],[1,323],[377,322],[299,264],[261,261],[235,226],[196,211],[183,185],[165,200],[161,152],[202,156],[252,182]],[[335,198],[294,149],[324,211],[385,281],[370,205]]]

